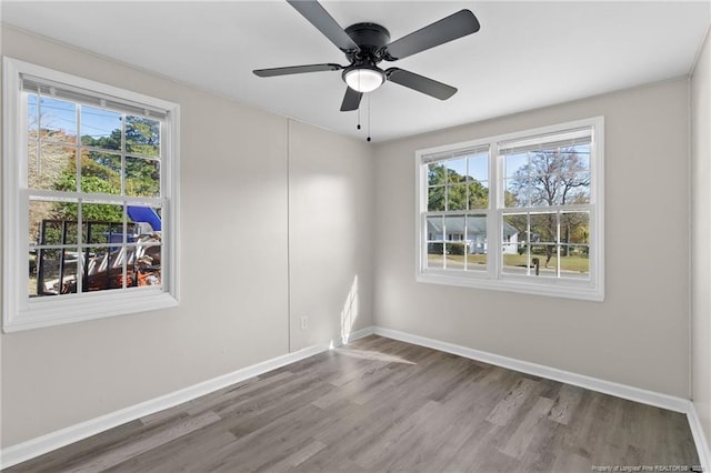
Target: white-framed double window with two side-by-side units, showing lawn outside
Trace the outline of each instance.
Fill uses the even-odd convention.
[[[603,300],[603,124],[418,151],[418,281]]]

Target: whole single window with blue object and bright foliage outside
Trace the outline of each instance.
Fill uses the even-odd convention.
[[[178,105],[3,73],[3,331],[176,305]]]

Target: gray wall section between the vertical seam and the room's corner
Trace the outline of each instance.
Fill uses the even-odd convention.
[[[289,231],[291,349],[348,336],[372,325],[372,153],[347,140],[291,122]],[[318,295],[317,295],[318,294]],[[308,318],[308,330],[301,318]]]

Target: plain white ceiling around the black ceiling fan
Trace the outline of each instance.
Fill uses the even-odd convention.
[[[4,23],[340,133],[340,72],[258,78],[253,69],[343,54],[286,1],[1,2]],[[377,22],[398,39],[462,8],[481,30],[387,63],[454,85],[448,101],[385,83],[370,94],[382,141],[688,74],[709,1],[323,1],[343,27]],[[384,69],[384,68],[383,68]],[[365,123],[369,100],[361,102]]]

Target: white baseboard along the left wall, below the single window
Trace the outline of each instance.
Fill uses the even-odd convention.
[[[209,394],[213,391],[221,390],[231,384],[240,383],[250,378],[258,376],[267,373],[268,371],[276,370],[290,363],[294,363],[299,360],[312,356],[314,354],[324,352],[331,348],[338,346],[349,341],[358,340],[360,338],[371,335],[373,328],[367,328],[350,334],[343,335],[340,340],[331,341],[330,343],[322,343],[306,348],[303,350],[288,353],[281,356],[277,356],[271,360],[267,360],[261,363],[253,364],[251,366],[243,368],[241,370],[233,371],[231,373],[213,378],[211,380],[203,381],[192,386],[188,386],[172,393],[154,397],[152,400],[142,402],[140,404],[131,405],[120,411],[111,412],[106,415],[101,415],[96,419],[91,419],[86,422],[81,422],[76,425],[71,425],[66,429],[61,429],[56,432],[21,442],[16,445],[11,445],[0,451],[0,469],[7,469],[18,463],[26,462],[52,450],[60,449],[69,445],[70,443],[78,442],[87,439],[91,435],[96,435],[100,432],[113,429],[118,425],[133,421],[136,419],[144,417],[149,414],[162,411],[188,402],[201,395]]]

